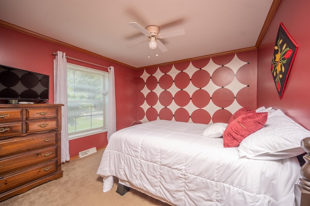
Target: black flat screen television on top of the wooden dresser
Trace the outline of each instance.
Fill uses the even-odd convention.
[[[0,65],[0,100],[48,100],[49,75]]]

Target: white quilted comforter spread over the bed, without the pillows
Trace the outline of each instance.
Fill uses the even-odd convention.
[[[156,120],[115,132],[97,174],[177,206],[294,206],[296,158],[239,158],[237,147],[224,148],[222,138],[203,137],[206,127]]]

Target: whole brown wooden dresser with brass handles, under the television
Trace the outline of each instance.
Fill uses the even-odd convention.
[[[0,104],[0,201],[62,177],[62,104]]]

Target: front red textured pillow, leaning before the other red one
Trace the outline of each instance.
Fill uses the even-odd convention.
[[[267,121],[267,112],[249,112],[229,123],[224,131],[224,147],[238,147],[251,133],[261,129]]]

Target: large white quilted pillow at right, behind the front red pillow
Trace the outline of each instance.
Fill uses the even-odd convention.
[[[310,131],[287,117],[281,110],[268,114],[266,124],[242,140],[239,156],[256,160],[281,160],[304,153],[300,147]]]

